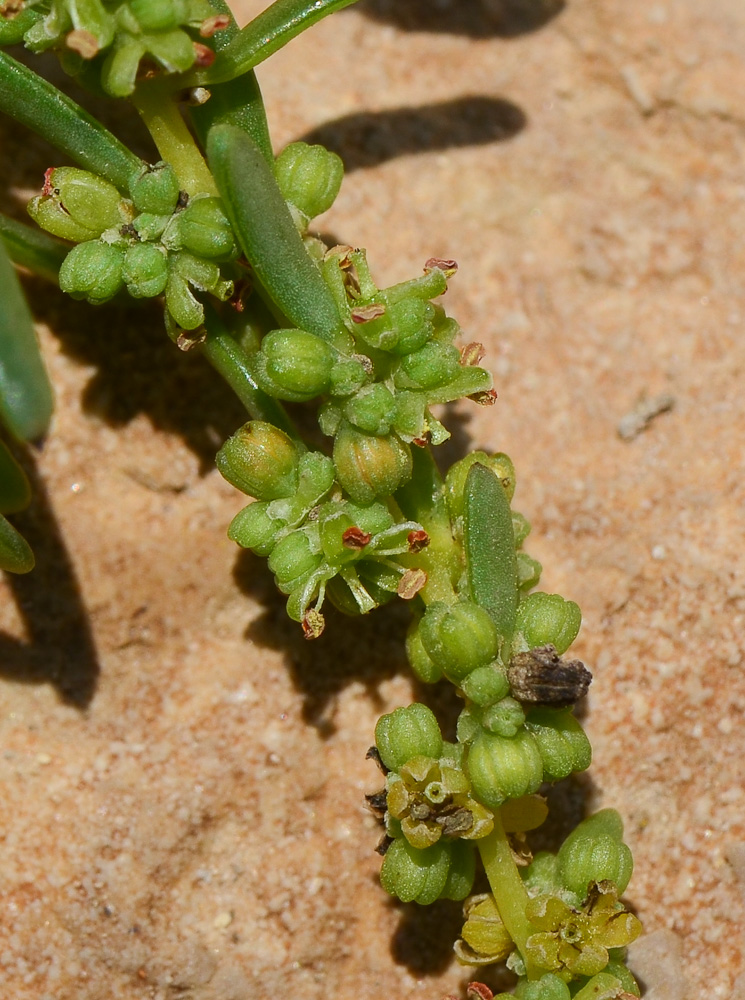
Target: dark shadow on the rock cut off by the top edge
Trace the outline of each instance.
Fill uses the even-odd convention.
[[[565,0],[363,0],[358,9],[403,31],[516,38],[538,31],[565,6]]]

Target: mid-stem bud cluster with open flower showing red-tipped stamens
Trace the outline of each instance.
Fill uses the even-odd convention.
[[[323,628],[326,595],[359,614],[396,593],[409,596],[407,587],[415,592],[416,574],[394,560],[425,546],[426,533],[413,521],[396,521],[382,503],[346,500],[328,456],[252,420],[225,442],[217,466],[256,498],[235,516],[229,537],[269,557],[277,586],[288,595],[288,614],[309,637]]]

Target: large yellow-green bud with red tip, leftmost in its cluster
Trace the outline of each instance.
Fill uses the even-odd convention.
[[[91,240],[122,224],[122,196],[113,184],[78,167],[55,167],[44,178],[44,191],[32,199],[29,215],[43,229],[63,239]]]

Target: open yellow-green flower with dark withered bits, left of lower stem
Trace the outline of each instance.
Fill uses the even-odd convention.
[[[468,778],[454,762],[412,757],[388,775],[388,813],[420,850],[441,837],[478,840],[491,833],[494,816],[471,798],[470,790]]]

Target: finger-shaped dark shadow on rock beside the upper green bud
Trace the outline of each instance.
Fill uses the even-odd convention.
[[[399,156],[504,142],[526,125],[525,112],[511,101],[473,95],[345,115],[308,132],[302,141],[326,146],[351,173]]]

